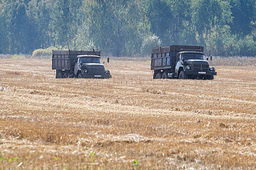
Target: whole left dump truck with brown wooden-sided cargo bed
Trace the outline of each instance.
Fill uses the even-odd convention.
[[[112,78],[100,62],[100,51],[53,51],[52,69],[56,78]]]

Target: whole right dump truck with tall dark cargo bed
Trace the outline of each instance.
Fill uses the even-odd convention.
[[[203,47],[172,45],[152,48],[153,79],[208,79],[217,75],[204,60]]]

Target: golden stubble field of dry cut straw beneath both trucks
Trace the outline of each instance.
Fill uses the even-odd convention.
[[[214,81],[107,68],[55,79],[51,60],[1,59],[0,169],[255,168],[255,66],[218,66]]]

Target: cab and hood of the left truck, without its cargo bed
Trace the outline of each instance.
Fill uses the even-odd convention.
[[[101,64],[98,55],[78,55],[74,60],[74,74],[77,78],[112,78],[110,71]]]

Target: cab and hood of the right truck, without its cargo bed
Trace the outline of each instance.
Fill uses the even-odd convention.
[[[204,53],[199,51],[178,52],[175,73],[179,79],[213,80],[214,75],[217,75],[215,68],[209,67],[209,62],[204,60]]]

